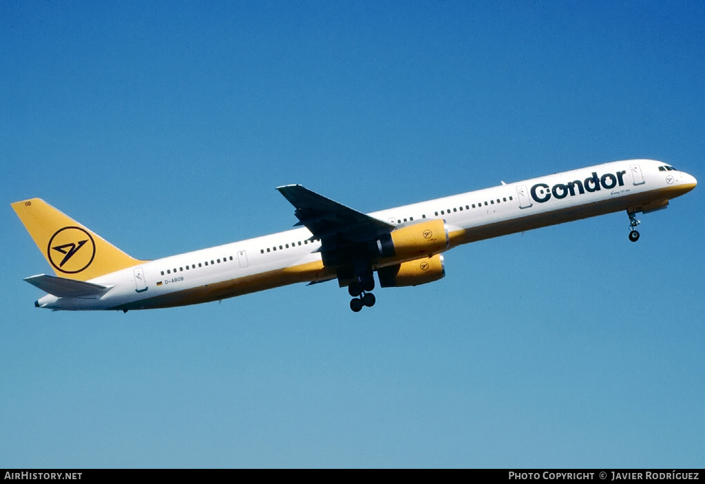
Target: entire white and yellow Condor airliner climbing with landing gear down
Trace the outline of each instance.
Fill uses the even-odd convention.
[[[697,180],[668,163],[603,163],[450,197],[362,213],[307,190],[277,190],[294,206],[292,230],[153,261],[133,259],[42,199],[12,205],[56,275],[25,278],[53,310],[157,309],[212,302],[293,283],[338,280],[350,309],[380,287],[415,286],[445,275],[443,253],[460,244],[582,218],[666,209]]]

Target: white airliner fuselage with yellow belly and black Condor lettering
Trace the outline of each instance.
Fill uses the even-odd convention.
[[[651,211],[695,186],[666,163],[629,160],[547,175],[498,187],[369,213],[393,225],[443,219],[450,244],[497,237],[614,211]],[[102,275],[112,286],[95,297],[47,295],[49,309],[151,309],[233,297],[282,285],[336,277],[324,266],[319,240],[306,228],[165,257]],[[447,249],[446,249],[447,250]],[[386,260],[373,269],[403,260]]]

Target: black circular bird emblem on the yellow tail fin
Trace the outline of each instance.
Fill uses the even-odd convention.
[[[57,271],[66,274],[80,273],[85,271],[95,258],[95,241],[83,228],[64,227],[51,236],[47,256]]]

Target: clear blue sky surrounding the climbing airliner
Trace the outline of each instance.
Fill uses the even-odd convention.
[[[701,2],[0,5],[0,467],[701,467],[702,187],[446,278],[42,311],[9,204],[142,259],[632,158],[705,178]]]

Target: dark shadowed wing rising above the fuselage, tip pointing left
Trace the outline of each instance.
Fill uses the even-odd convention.
[[[294,206],[296,225],[305,225],[314,238],[321,239],[324,249],[338,247],[341,242],[360,244],[388,234],[395,226],[370,217],[312,192],[301,185],[277,187]],[[331,247],[333,246],[333,247]]]

